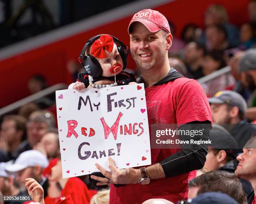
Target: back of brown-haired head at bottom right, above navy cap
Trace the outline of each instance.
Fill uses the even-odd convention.
[[[206,192],[228,194],[240,204],[247,204],[246,194],[235,174],[225,171],[212,171],[189,181],[188,198],[193,199]],[[225,203],[225,202],[223,202]]]

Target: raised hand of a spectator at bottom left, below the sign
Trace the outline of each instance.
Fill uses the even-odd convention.
[[[40,184],[38,184],[38,182],[36,182],[35,179],[26,179],[26,187],[33,202],[44,204],[44,189]]]

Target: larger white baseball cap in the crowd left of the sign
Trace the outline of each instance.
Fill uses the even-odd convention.
[[[48,159],[44,154],[37,150],[28,150],[22,152],[15,160],[14,164],[6,166],[5,170],[8,173],[15,173],[27,167],[35,167],[36,165],[45,168],[48,166],[48,164]]]

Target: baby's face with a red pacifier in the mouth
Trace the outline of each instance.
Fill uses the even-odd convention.
[[[114,75],[118,75],[123,70],[123,60],[116,45],[114,44],[112,52],[106,50],[105,52],[108,57],[102,59],[95,57],[102,67],[102,76],[113,77]]]

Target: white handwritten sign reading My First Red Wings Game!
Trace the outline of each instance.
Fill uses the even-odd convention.
[[[56,91],[63,178],[151,164],[143,84]]]

